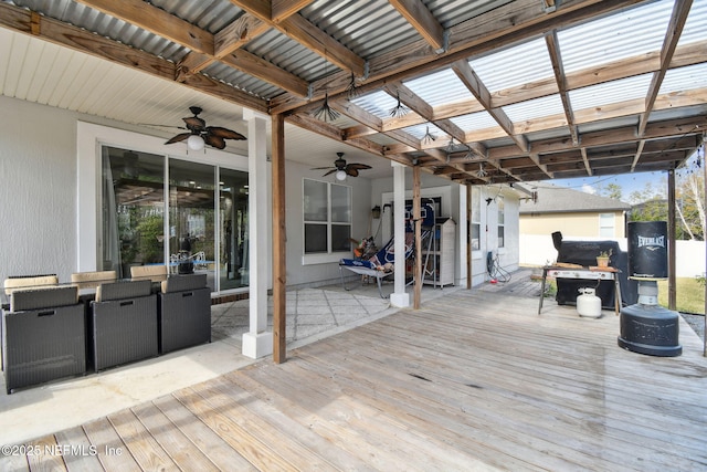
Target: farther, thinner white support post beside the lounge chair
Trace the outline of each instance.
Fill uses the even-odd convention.
[[[394,292],[390,294],[390,304],[400,308],[410,306],[410,295],[405,293],[405,166],[393,166],[393,235],[395,251]],[[402,254],[402,255],[399,255]]]

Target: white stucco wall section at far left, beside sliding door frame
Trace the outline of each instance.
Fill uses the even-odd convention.
[[[0,96],[0,280],[76,260],[76,115]]]

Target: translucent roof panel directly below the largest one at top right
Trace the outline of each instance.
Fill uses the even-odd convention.
[[[653,74],[644,74],[570,91],[570,103],[579,111],[645,98]]]

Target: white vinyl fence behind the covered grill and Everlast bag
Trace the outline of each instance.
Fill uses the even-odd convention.
[[[564,241],[605,241],[612,239],[619,242],[619,247],[626,251],[625,238],[564,238]],[[676,241],[675,270],[678,277],[694,277],[704,275],[705,269],[705,241]],[[520,234],[520,264],[545,265],[555,262],[557,250],[552,245],[552,238],[538,234]]]

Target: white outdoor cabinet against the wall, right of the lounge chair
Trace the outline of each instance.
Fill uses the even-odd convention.
[[[443,287],[454,285],[454,253],[456,223],[453,219],[437,219],[434,225],[434,239],[428,254],[423,258],[423,283]]]

